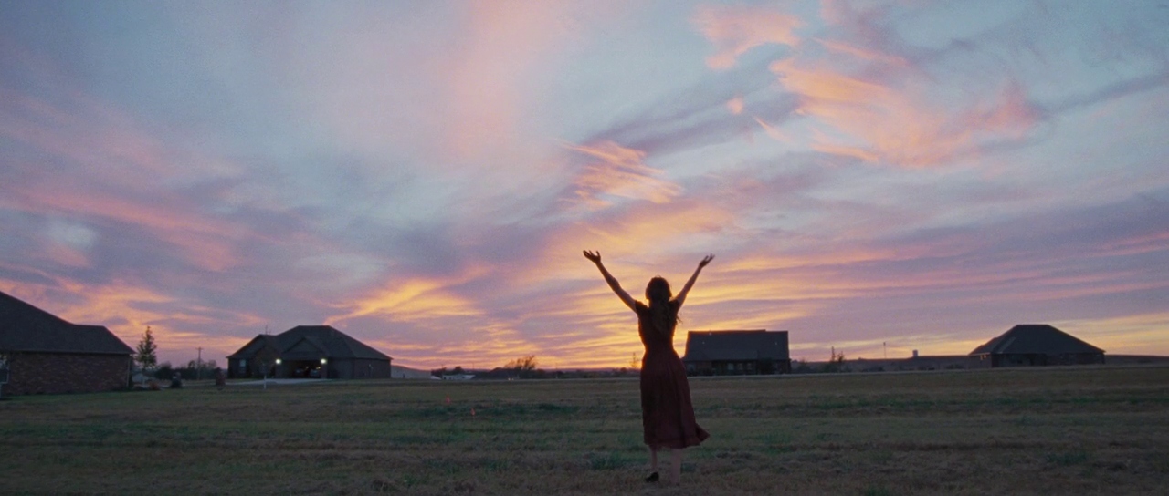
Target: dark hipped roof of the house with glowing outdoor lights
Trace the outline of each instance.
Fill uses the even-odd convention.
[[[261,334],[228,358],[251,358],[265,345],[277,350],[283,359],[390,359],[332,326],[297,326],[275,336]]]

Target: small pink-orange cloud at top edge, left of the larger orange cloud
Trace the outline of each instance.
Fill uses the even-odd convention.
[[[795,30],[803,26],[794,15],[743,6],[701,6],[693,22],[717,51],[706,58],[706,65],[719,70],[734,67],[740,55],[755,47],[800,44]]]

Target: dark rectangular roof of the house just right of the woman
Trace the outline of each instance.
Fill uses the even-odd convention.
[[[692,330],[686,362],[789,359],[786,330]]]

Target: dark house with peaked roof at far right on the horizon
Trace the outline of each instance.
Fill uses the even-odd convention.
[[[1104,350],[1047,324],[1019,324],[970,351],[971,368],[1104,363]]]

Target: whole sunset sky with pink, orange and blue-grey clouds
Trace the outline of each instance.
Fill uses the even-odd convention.
[[[0,291],[159,359],[1169,355],[1163,1],[0,1]],[[883,343],[886,343],[883,347]]]

